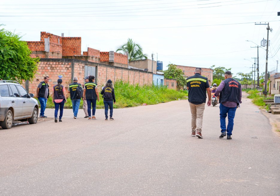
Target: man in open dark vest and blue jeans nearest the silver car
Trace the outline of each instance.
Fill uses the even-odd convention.
[[[45,109],[49,98],[48,82],[49,82],[49,76],[45,76],[44,81],[40,82],[37,87],[37,98],[41,105],[41,111],[40,111],[41,118],[47,118],[47,116],[45,116]]]

